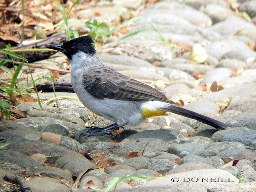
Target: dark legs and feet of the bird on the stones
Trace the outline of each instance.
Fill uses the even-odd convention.
[[[86,133],[81,133],[79,135],[79,137],[81,135],[84,135],[85,137],[94,136],[94,135],[106,135],[106,136],[110,137],[110,136],[114,136],[114,135],[109,135],[108,133],[118,129],[119,127],[120,127],[120,125],[118,125],[116,123],[108,125],[108,126],[103,127],[103,128],[90,127],[90,129]]]

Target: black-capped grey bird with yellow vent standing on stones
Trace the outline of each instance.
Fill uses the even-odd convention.
[[[96,127],[90,133],[82,133],[85,136],[104,135],[124,125],[135,126],[145,118],[167,112],[198,120],[219,130],[228,128],[225,123],[182,108],[155,88],[104,65],[90,35],[48,45],[47,48],[60,51],[68,58],[71,84],[82,104],[95,114],[114,121],[107,127]]]

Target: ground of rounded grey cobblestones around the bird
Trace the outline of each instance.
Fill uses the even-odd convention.
[[[36,103],[22,103],[18,110],[28,112],[30,118],[0,122],[0,188],[17,187],[2,179],[8,174],[9,181],[19,183],[24,191],[104,191],[115,177],[137,174],[148,178],[119,182],[116,190],[256,191],[256,151],[246,148],[256,148],[256,1],[237,1],[237,11],[247,12],[251,22],[227,2],[186,0],[182,6],[178,0],[161,0],[143,10],[144,0],[101,2],[94,9],[80,10],[81,19],[74,20],[72,27],[82,30],[82,15],[96,10],[102,13],[97,19],[107,22],[130,12],[143,16],[128,33],[142,29],[148,33],[119,43],[109,38],[98,50],[102,61],[132,78],[162,80],[168,98],[226,123],[229,129],[217,131],[170,114],[125,126],[118,141],[79,137],[91,123],[103,127],[112,122],[87,110],[74,98],[76,94],[58,92],[57,96],[66,97],[58,100],[58,108],[49,102],[42,111]],[[171,49],[160,41],[151,24],[183,49]],[[203,64],[193,64],[189,52],[184,52],[196,43],[208,54]],[[57,68],[65,62],[65,56],[57,53],[35,63]],[[49,72],[38,70],[41,75]],[[70,74],[59,81],[70,81]],[[214,81],[223,89],[209,92]],[[49,100],[54,94],[40,93],[40,98]]]

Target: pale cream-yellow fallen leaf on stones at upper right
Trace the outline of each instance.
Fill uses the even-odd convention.
[[[188,60],[190,60],[192,63],[200,64],[204,63],[204,61],[207,59],[208,54],[206,53],[204,47],[200,45],[199,43],[196,43],[188,55]]]

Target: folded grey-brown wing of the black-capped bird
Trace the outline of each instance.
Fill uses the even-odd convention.
[[[168,100],[166,96],[151,86],[106,66],[101,66],[97,70],[94,68],[92,75],[84,75],[83,84],[92,96],[100,99],[111,98],[130,101],[158,100],[174,104],[174,102]]]

